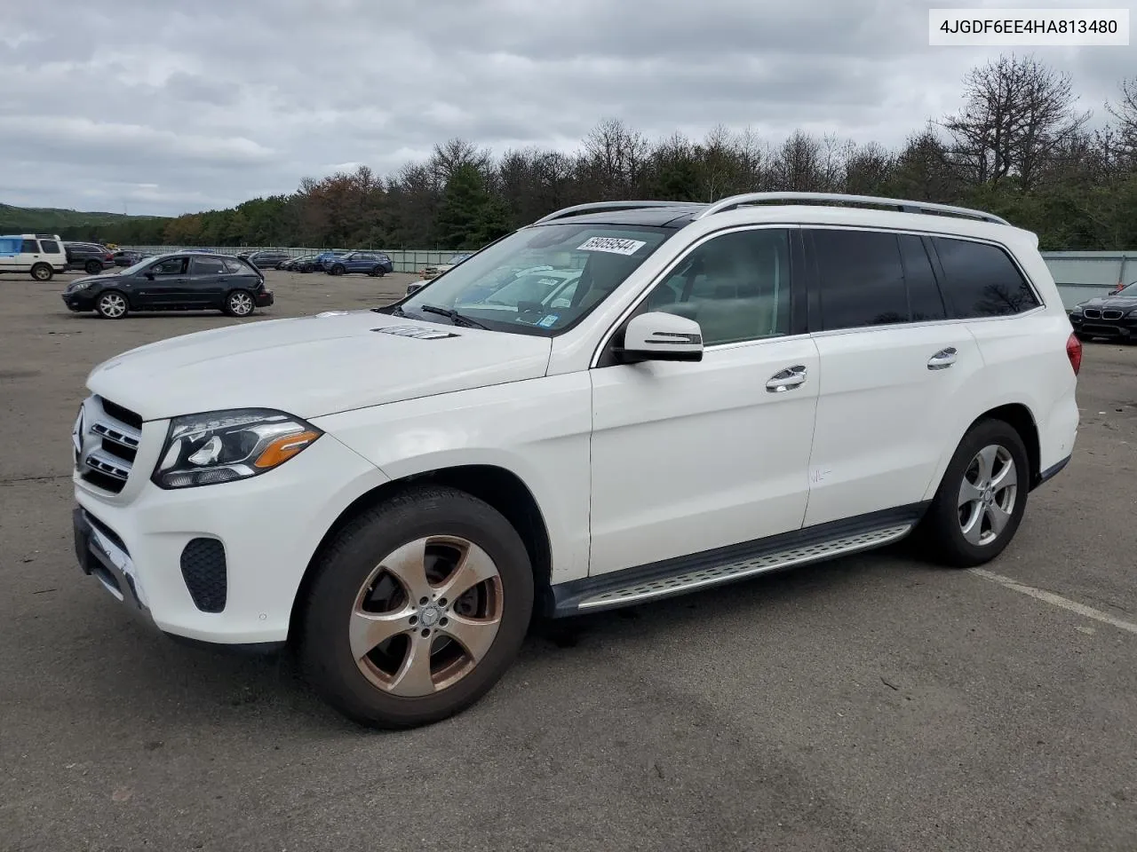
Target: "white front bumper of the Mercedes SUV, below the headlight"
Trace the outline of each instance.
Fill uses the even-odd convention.
[[[287,641],[297,591],[340,512],[388,479],[331,435],[249,479],[166,491],[150,482],[167,421],[143,425],[111,494],[74,477],[75,556],[134,616],[175,638]]]

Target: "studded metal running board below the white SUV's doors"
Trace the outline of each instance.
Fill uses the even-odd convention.
[[[553,587],[553,617],[626,607],[732,583],[758,574],[882,548],[916,525],[926,503],[873,512],[771,538]]]

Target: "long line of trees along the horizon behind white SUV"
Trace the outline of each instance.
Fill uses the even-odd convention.
[[[387,177],[306,177],[288,195],[175,218],[126,217],[73,237],[121,244],[475,249],[568,204],[712,201],[739,192],[888,195],[980,208],[1039,234],[1048,250],[1137,248],[1137,76],[1078,109],[1069,75],[1003,56],[963,78],[958,112],[888,149],[795,132],[781,142],[716,127],[702,140],[649,140],[600,122],[572,153],[501,156],[462,140]]]

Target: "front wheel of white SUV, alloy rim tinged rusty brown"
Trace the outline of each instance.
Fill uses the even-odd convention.
[[[412,488],[363,512],[315,571],[301,665],[368,727],[428,725],[475,703],[513,662],[533,608],[517,532],[454,488]]]

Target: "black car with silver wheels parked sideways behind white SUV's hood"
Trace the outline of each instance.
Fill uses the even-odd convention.
[[[73,311],[122,319],[132,310],[221,310],[247,317],[273,303],[265,276],[246,260],[180,251],[147,258],[113,275],[77,278],[63,293]]]

